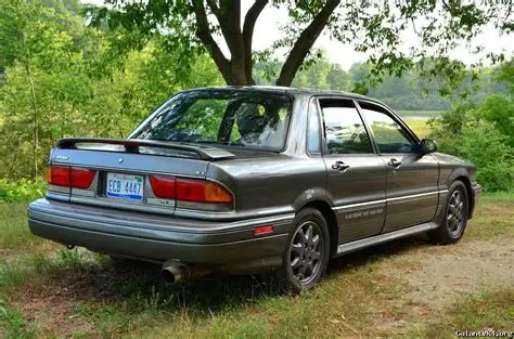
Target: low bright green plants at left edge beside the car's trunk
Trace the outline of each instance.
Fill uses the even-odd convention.
[[[20,179],[12,181],[0,179],[0,203],[29,201],[41,197],[47,183],[42,180]]]

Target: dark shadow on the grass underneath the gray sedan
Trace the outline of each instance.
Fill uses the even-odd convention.
[[[428,246],[423,237],[411,237],[360,250],[330,262],[331,277],[359,269],[370,262]],[[187,309],[196,315],[209,315],[237,309],[264,298],[288,296],[284,283],[275,274],[228,275],[210,273],[195,279],[166,285],[160,278],[160,266],[150,263],[113,263],[104,260],[89,269],[65,269],[52,272],[38,283],[35,294],[65,290],[70,302],[97,305],[124,305],[132,312],[158,313]],[[44,286],[46,285],[46,286]],[[321,283],[321,286],[323,283]]]

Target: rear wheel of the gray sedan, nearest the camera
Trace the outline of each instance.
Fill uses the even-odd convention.
[[[296,294],[310,289],[323,276],[330,259],[329,226],[323,214],[306,208],[295,218],[285,246],[281,275]]]

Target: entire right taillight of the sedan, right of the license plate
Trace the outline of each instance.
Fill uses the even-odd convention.
[[[227,188],[209,181],[150,175],[150,184],[158,198],[215,204],[233,201],[232,194]]]

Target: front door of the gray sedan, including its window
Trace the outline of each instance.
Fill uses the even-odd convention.
[[[358,104],[387,166],[383,233],[432,221],[439,198],[437,160],[419,152],[417,138],[386,107],[365,101]]]

